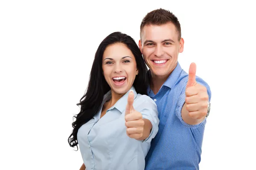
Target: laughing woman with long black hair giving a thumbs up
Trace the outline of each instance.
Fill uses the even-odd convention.
[[[157,106],[146,95],[148,82],[136,42],[120,32],[108,35],[96,51],[68,139],[71,147],[79,144],[81,169],[144,170],[159,124]]]

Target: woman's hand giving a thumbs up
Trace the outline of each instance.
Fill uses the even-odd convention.
[[[126,134],[130,138],[139,139],[143,136],[145,122],[143,121],[142,114],[134,110],[133,102],[134,93],[130,91],[125,109]]]

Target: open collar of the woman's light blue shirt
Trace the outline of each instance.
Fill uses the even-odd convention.
[[[134,86],[132,86],[130,90],[133,90],[133,91],[134,91],[134,99],[135,99],[136,96],[137,96],[137,92],[136,92]],[[126,108],[126,105],[127,105],[127,99],[128,99],[128,95],[129,95],[130,90],[127,91],[127,92],[125,93],[125,95],[123,95],[123,96],[115,103],[115,105],[113,105],[113,106],[112,106],[111,108],[109,108],[108,110],[111,110],[111,109],[113,109],[113,108],[116,108],[116,109],[119,110],[121,113],[123,113],[123,111],[125,111],[125,108]],[[106,101],[108,101],[109,99],[111,99],[111,90],[108,91],[108,93],[106,93],[106,94],[104,95],[103,102],[102,102],[102,106],[103,106],[104,103],[105,103]]]

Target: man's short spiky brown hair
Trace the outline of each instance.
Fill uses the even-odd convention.
[[[166,9],[155,9],[151,12],[149,12],[148,14],[146,14],[146,16],[143,18],[141,24],[140,24],[140,37],[141,37],[141,33],[142,30],[144,28],[144,26],[146,25],[163,25],[166,23],[173,23],[176,27],[176,30],[178,32],[178,40],[180,40],[181,38],[181,28],[180,28],[180,22],[177,19],[177,17],[172,14],[172,12],[170,12],[169,10]]]

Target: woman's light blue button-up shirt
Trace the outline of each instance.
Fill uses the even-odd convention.
[[[134,91],[134,109],[152,124],[150,136],[139,141],[126,134],[125,108],[129,91],[100,118],[103,104],[111,98],[109,91],[100,111],[77,133],[86,170],[144,170],[151,139],[158,131],[157,105],[149,96],[137,94],[134,87],[131,90]]]

